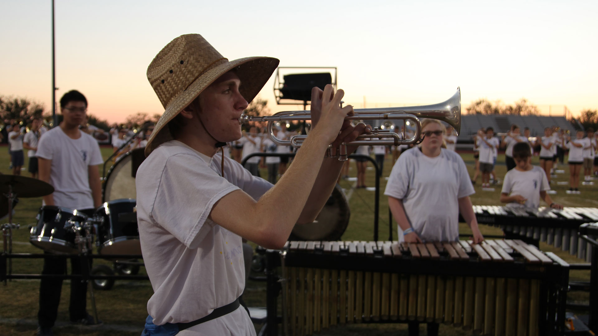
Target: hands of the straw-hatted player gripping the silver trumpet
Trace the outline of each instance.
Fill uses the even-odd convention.
[[[353,106],[346,105],[340,107],[341,99],[343,99],[344,91],[339,89],[334,92],[332,85],[328,84],[322,91],[318,87],[312,88],[312,129],[316,128],[319,122],[322,122],[327,129],[336,130],[340,132],[335,135],[329,142],[332,143],[333,148],[337,148],[342,142],[351,142],[359,135],[371,132],[371,126],[364,123],[358,123],[356,126],[351,124],[350,120],[345,120],[347,115],[353,115]],[[342,119],[339,117],[342,115]],[[347,154],[351,154],[358,146],[347,146]]]

